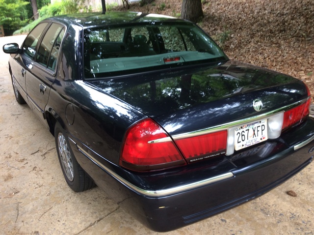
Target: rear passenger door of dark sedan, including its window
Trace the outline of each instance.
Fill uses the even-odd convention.
[[[35,113],[44,118],[44,109],[48,102],[50,88],[55,78],[56,64],[65,27],[52,23],[43,35],[35,61],[28,67],[26,91]]]

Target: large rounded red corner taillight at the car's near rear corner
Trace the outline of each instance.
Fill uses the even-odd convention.
[[[151,171],[185,165],[169,135],[152,119],[144,119],[127,131],[120,165],[134,171]],[[156,141],[164,139],[165,141]]]

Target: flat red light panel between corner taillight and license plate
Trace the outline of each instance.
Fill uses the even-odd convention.
[[[226,152],[227,130],[176,140],[188,162],[203,160]]]

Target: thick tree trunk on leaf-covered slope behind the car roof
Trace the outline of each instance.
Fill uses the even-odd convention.
[[[181,18],[197,23],[204,16],[201,0],[183,0]]]

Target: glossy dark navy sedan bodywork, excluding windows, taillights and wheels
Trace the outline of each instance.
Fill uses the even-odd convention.
[[[224,54],[218,62],[85,79],[84,29],[161,21],[191,24],[138,12],[46,19],[39,43],[52,23],[65,29],[55,70],[23,52],[12,54],[9,66],[22,96],[50,132],[56,123],[64,129],[88,176],[143,224],[164,232],[253,199],[300,171],[313,158],[314,118],[304,117],[280,137],[232,154],[149,172],[121,167],[126,133],[141,120],[155,120],[166,141],[221,129],[232,135],[237,125],[282,114],[310,99],[303,82]],[[256,99],[262,110],[254,110]]]

